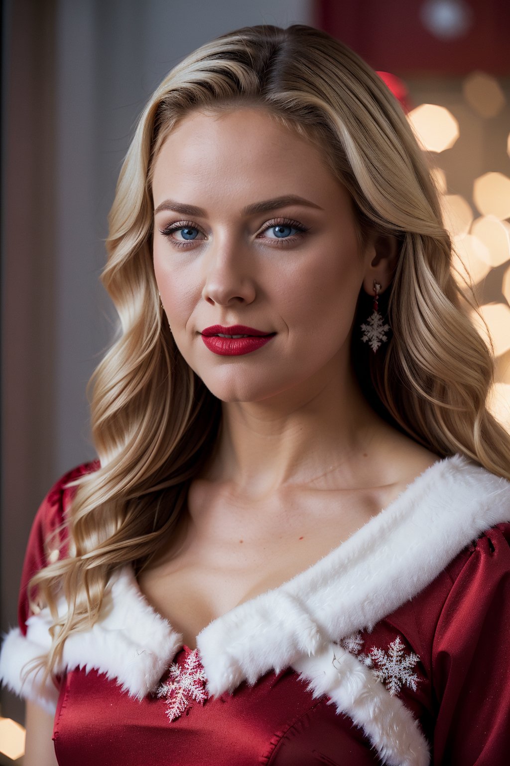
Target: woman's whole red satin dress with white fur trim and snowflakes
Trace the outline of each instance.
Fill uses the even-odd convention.
[[[4,683],[56,710],[60,766],[508,763],[510,483],[439,461],[316,565],[213,620],[193,651],[122,568],[53,685],[22,686],[50,625],[28,614],[26,584],[54,558],[65,484],[86,470],[37,513],[0,659]]]

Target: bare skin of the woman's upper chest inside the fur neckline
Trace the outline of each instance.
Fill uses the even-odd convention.
[[[175,541],[141,571],[139,587],[194,648],[203,627],[310,568],[389,496],[387,490],[308,492],[251,503],[197,483]]]

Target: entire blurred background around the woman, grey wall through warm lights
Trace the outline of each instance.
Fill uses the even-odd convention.
[[[164,74],[218,34],[312,24],[395,78],[382,74],[436,169],[510,425],[506,0],[6,0],[2,13],[2,630],[42,496],[93,457],[85,386],[115,327],[98,277],[135,120]],[[6,692],[1,713],[22,722]]]

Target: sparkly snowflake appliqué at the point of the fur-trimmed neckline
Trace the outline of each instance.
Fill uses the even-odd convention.
[[[208,696],[206,674],[197,649],[187,655],[184,665],[171,664],[168,680],[158,689],[158,697],[167,699],[169,721],[175,721],[187,712],[193,702],[203,705]]]

